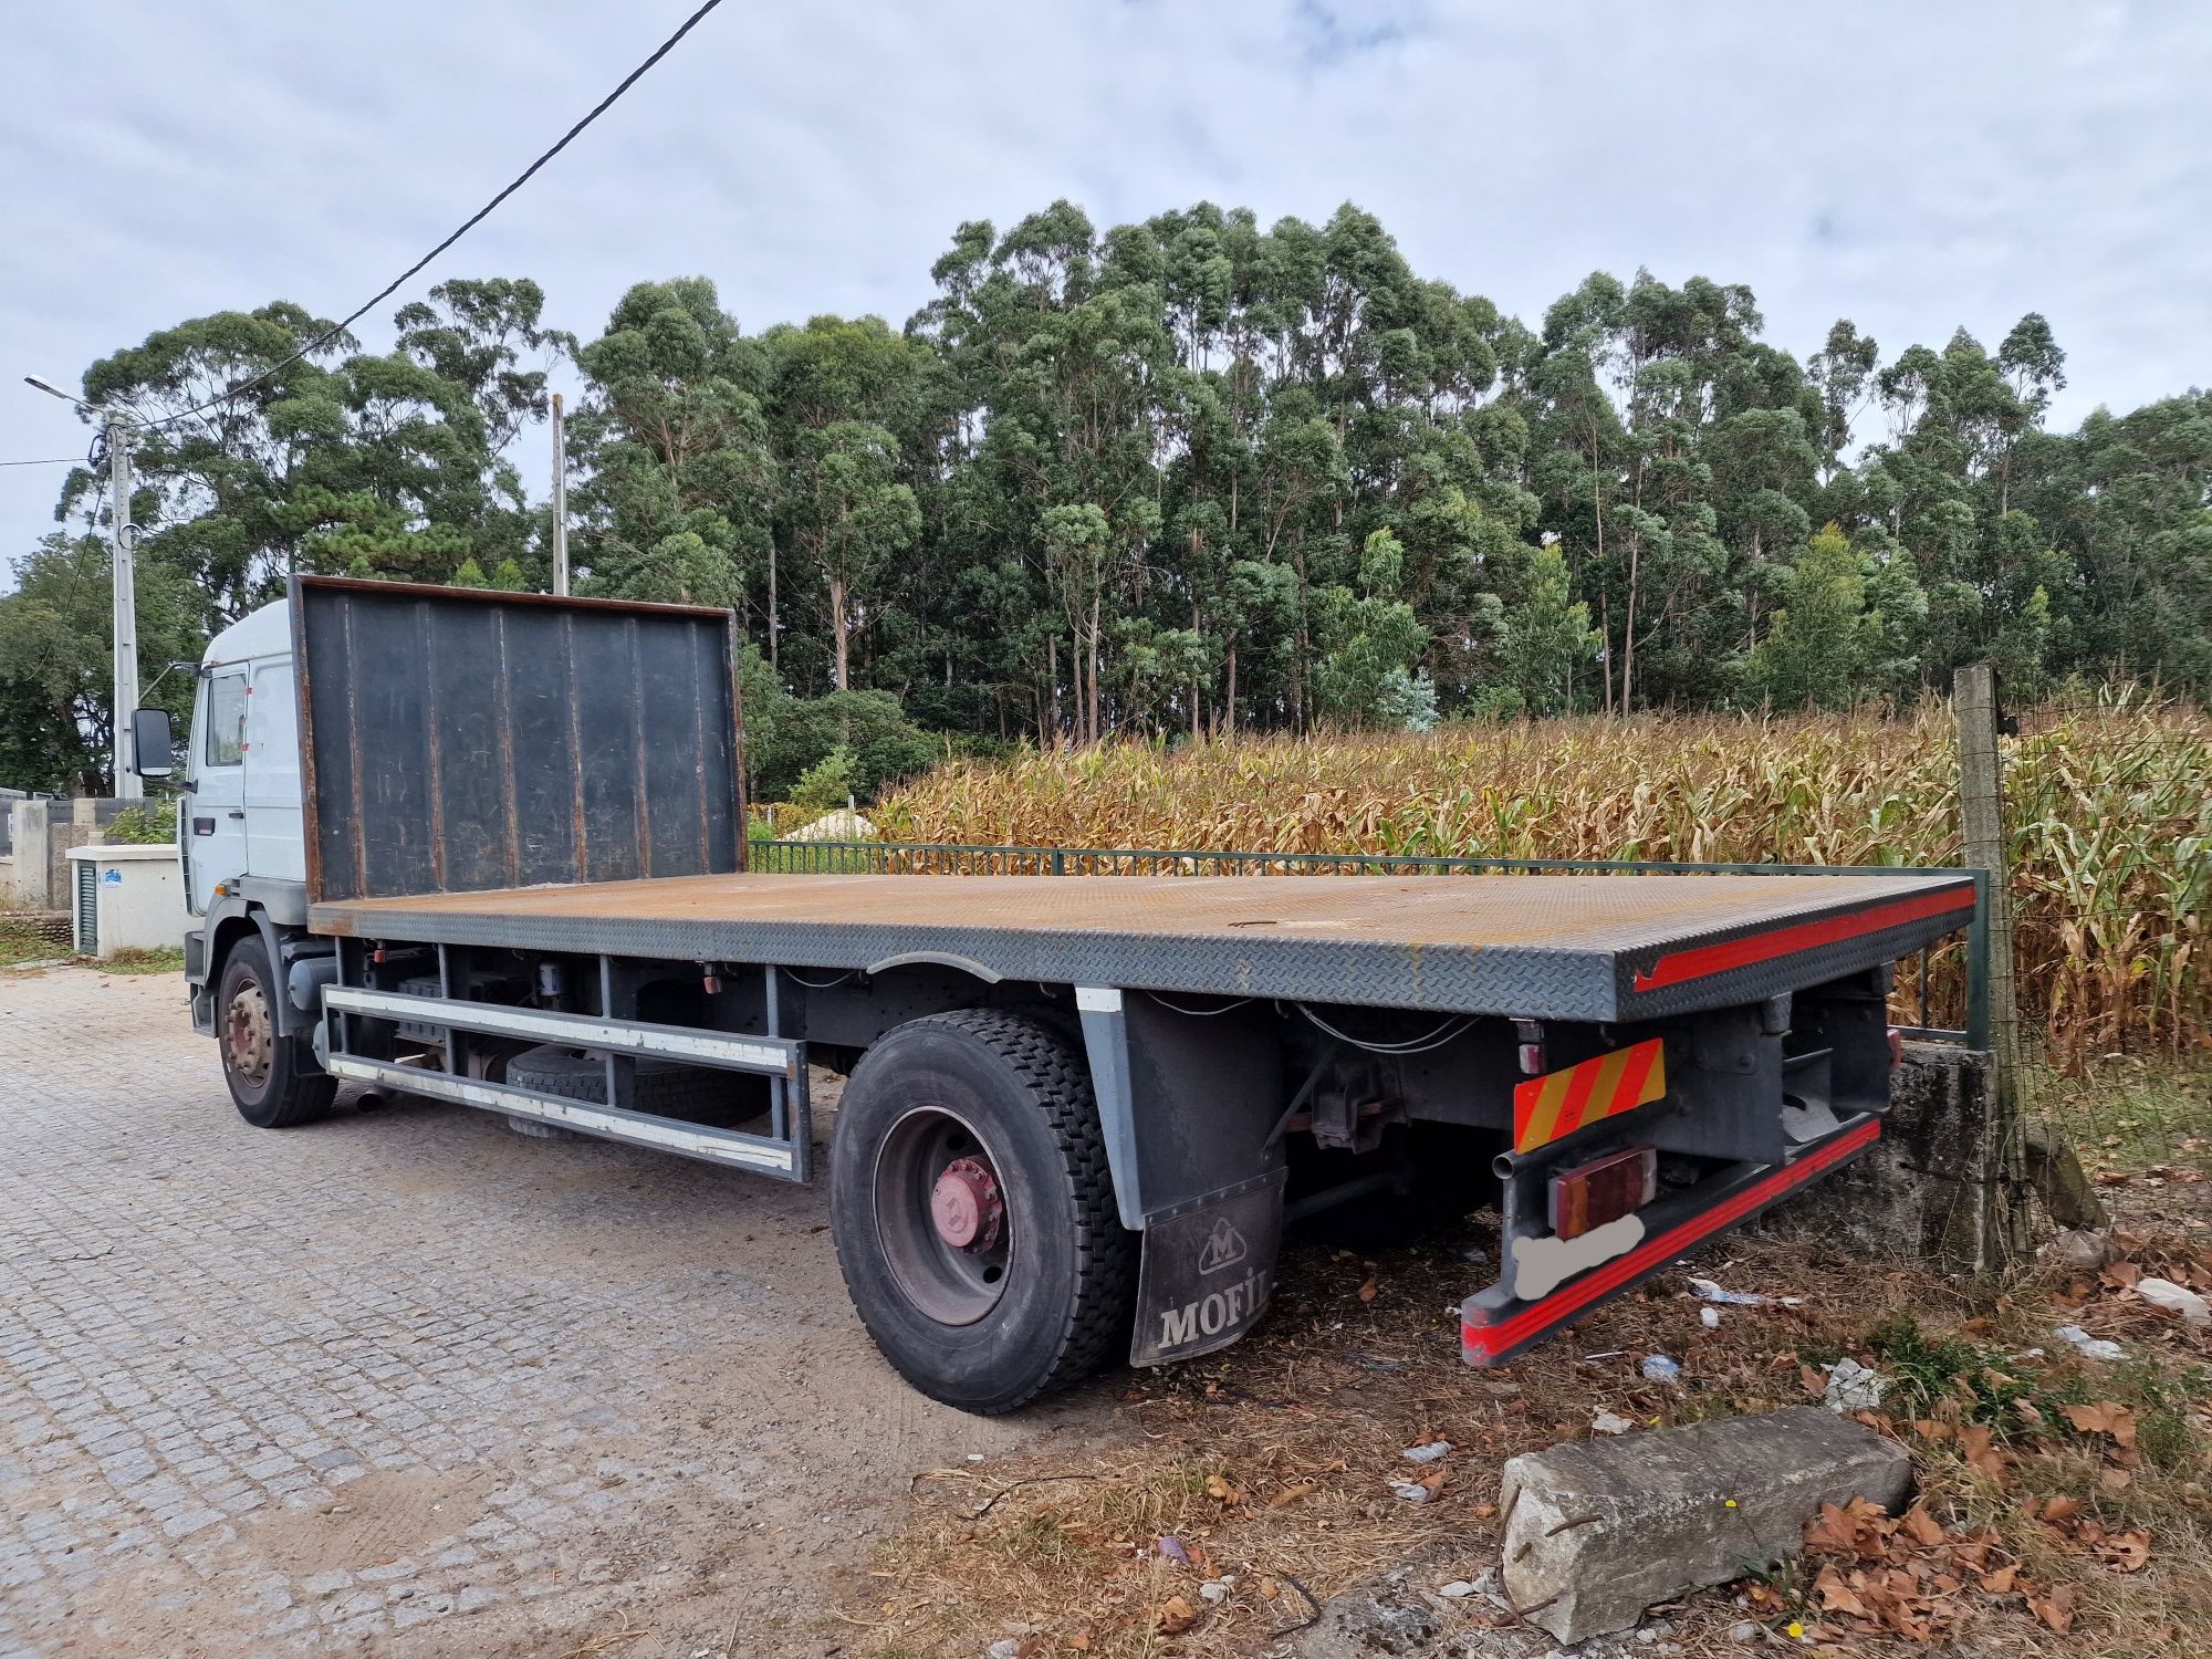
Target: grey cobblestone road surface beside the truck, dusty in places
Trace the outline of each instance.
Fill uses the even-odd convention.
[[[175,975],[0,975],[0,1659],[838,1650],[914,1471],[1088,1411],[909,1391],[825,1223],[467,1108],[252,1130]]]

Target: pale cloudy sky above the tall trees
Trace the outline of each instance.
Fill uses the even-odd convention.
[[[0,460],[84,445],[22,374],[279,296],[352,310],[692,4],[11,0]],[[2073,422],[2212,383],[2208,86],[2183,0],[728,0],[400,299],[526,274],[595,332],[628,283],[703,272],[745,327],[898,323],[962,219],[1352,199],[1531,321],[1637,265],[1750,283],[1796,352],[1836,316],[1896,354],[2042,310]],[[0,467],[0,557],[60,476]]]

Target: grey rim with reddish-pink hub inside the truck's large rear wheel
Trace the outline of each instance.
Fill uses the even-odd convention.
[[[998,1307],[1013,1270],[1013,1217],[998,1159],[958,1113],[918,1106],[876,1152],[876,1237],[891,1279],[938,1325]]]

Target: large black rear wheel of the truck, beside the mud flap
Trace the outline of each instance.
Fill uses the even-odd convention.
[[[852,1073],[830,1230],[860,1323],[931,1400],[995,1416],[1126,1352],[1121,1228],[1091,1075],[1035,1020],[936,1013]]]

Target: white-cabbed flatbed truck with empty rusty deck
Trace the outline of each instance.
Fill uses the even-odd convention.
[[[181,745],[192,1020],[341,1084],[814,1177],[883,1356],[995,1413],[1210,1354],[1283,1225],[1495,1203],[1498,1365],[1880,1135],[1969,872],[750,874],[728,611],[292,577]],[[166,714],[137,754],[161,774]]]

